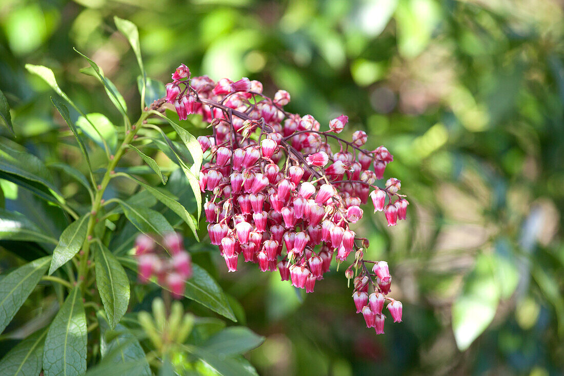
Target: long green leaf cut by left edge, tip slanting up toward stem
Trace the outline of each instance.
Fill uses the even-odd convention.
[[[41,257],[31,263],[20,266],[0,281],[0,333],[16,312],[20,309],[29,294],[37,286],[39,279],[45,274],[51,256]]]

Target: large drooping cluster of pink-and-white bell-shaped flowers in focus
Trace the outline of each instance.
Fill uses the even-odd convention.
[[[209,193],[204,211],[210,240],[219,246],[228,270],[237,270],[242,254],[263,272],[278,269],[283,281],[312,292],[333,256],[340,264],[355,251],[355,281],[365,281],[355,283],[355,289],[365,293],[373,277],[361,248],[368,240],[357,237],[351,224],[363,217],[360,206],[368,198],[374,212],[384,211],[388,226],[406,218],[408,205],[398,193],[399,180],[374,185],[393,161],[387,148],[364,150],[367,134],[362,130],[354,132],[352,141],[339,137],[348,122],[345,115],[321,131],[313,116],[284,110],[287,91],[268,98],[258,81],[191,78],[184,64],[172,78],[165,99],[180,119],[199,113],[213,130],[213,136],[198,138],[209,160],[199,180],[202,193]],[[346,273],[354,277],[352,265]],[[380,282],[372,286],[382,296],[389,292],[389,284],[387,291]],[[384,316],[379,320],[383,325]],[[367,324],[376,327],[373,321]]]

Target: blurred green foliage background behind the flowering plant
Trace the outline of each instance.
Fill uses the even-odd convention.
[[[76,47],[139,112],[135,57],[114,15],[138,25],[149,77],[168,82],[180,63],[214,80],[248,76],[270,95],[288,90],[287,109],[325,129],[344,112],[349,133],[364,129],[368,147],[394,154],[386,177],[402,180],[408,221],[387,229],[365,215],[358,230],[366,258],[389,261],[404,304],[385,335],[354,313],[342,270],[298,296],[277,274],[227,275],[217,249],[193,247],[241,322],[267,337],[248,356],[259,373],[561,374],[562,1],[3,0],[0,90],[17,141],[43,159],[80,164],[76,148],[42,146],[68,130],[25,63],[51,67],[80,107],[118,124]]]

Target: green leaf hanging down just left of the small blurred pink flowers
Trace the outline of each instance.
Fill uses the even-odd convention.
[[[96,242],[96,285],[111,329],[116,327],[129,305],[129,278],[124,267],[102,244]]]

